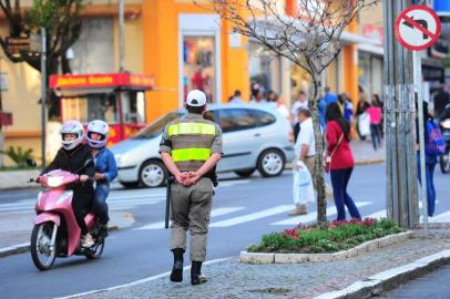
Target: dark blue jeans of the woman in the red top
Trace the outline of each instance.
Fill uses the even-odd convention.
[[[337,220],[345,220],[346,219],[346,207],[350,213],[351,218],[361,218],[358,208],[355,205],[354,199],[351,199],[350,195],[347,193],[347,185],[348,181],[350,179],[351,172],[354,168],[345,168],[345,169],[331,169],[331,185],[333,185],[333,193],[335,195],[335,205],[337,209]]]

